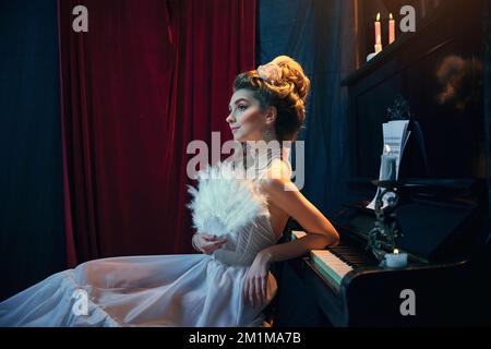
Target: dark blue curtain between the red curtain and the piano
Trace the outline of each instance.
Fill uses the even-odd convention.
[[[354,0],[260,0],[256,64],[296,59],[312,83],[307,106],[302,193],[330,216],[350,201],[347,100],[340,81],[355,70]],[[292,163],[295,165],[296,157]]]

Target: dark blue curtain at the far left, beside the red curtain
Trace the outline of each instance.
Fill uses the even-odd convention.
[[[0,299],[65,268],[55,0],[0,0]]]

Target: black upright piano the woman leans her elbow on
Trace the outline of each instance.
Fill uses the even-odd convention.
[[[490,1],[444,1],[417,33],[400,36],[343,84],[354,139],[351,196],[328,218],[342,243],[277,263],[274,326],[490,324]],[[367,249],[381,124],[396,96],[411,109],[395,214],[408,253],[384,268]],[[290,219],[283,242],[303,228]],[[388,252],[388,251],[387,251]],[[415,313],[403,314],[405,290]]]

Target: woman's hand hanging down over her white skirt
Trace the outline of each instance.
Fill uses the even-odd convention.
[[[260,252],[248,269],[243,287],[244,300],[253,308],[262,305],[267,300],[268,274],[270,258]]]

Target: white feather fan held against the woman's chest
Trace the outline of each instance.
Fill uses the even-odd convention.
[[[259,181],[247,179],[232,163],[217,163],[197,173],[197,190],[188,185],[193,196],[187,205],[192,210],[196,232],[217,237],[237,234],[258,216],[270,217],[267,195]]]

